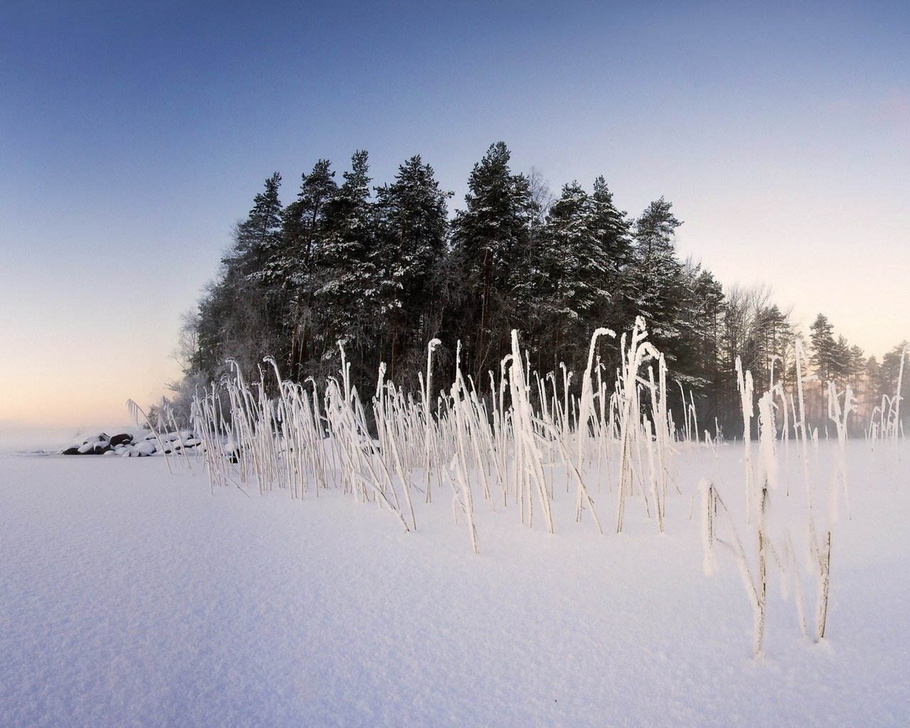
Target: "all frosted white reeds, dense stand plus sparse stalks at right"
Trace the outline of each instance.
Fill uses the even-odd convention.
[[[377,387],[367,402],[351,383],[340,346],[337,376],[321,383],[282,379],[273,359],[263,362],[258,381],[250,383],[232,364],[229,376],[198,393],[192,409],[210,487],[237,487],[248,495],[285,490],[296,501],[336,490],[379,506],[404,532],[417,531],[424,510],[448,500],[475,553],[481,551],[480,511],[511,514],[527,528],[548,533],[568,527],[571,512],[576,523],[588,523],[603,534],[605,519],[612,517],[615,531],[622,532],[630,507],[637,507],[638,520],[651,521],[662,533],[668,500],[680,492],[680,451],[710,451],[719,466],[719,428],[715,422],[714,436],[708,430],[699,436],[693,395],[687,402],[680,386],[682,429],[677,430],[666,361],[649,342],[642,319],[620,337],[620,365],[611,378],[598,350],[615,342],[609,329],[593,333],[579,381],[564,367],[545,375],[532,371],[513,332],[511,350],[486,381],[462,373],[459,348],[454,378],[434,389],[432,358],[440,347],[434,339],[418,391],[386,381],[380,365]],[[839,500],[849,514],[844,447],[847,420],[855,410],[853,394],[833,385],[829,389],[839,454],[826,486],[829,507],[816,511],[818,484],[810,472],[818,469],[817,462],[810,469],[810,459],[818,457],[818,434],[805,424],[804,383],[814,379],[804,375],[806,363],[797,341],[795,392],[785,392],[781,382],[772,380],[756,399],[752,375],[737,361],[745,434],[739,487],[743,513],[725,505],[728,493],[722,490],[727,486],[703,481],[705,568],[712,571],[717,565],[716,548],[733,554],[753,606],[756,655],[763,649],[768,585],[775,572],[782,588],[794,593],[806,635],[804,591],[814,591],[814,638],[824,637]],[[879,410],[880,436],[895,438],[899,390],[896,401],[887,404]],[[791,433],[798,440],[793,452]],[[792,456],[803,474],[801,496],[792,496],[789,487]],[[779,488],[784,478],[787,487]],[[796,531],[774,517],[773,501],[791,497],[804,499]],[[560,505],[563,500],[566,506]],[[804,536],[809,585],[797,565],[794,533]]]

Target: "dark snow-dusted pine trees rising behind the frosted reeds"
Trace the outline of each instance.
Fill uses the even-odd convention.
[[[464,209],[451,218],[451,193],[419,156],[381,187],[370,185],[365,151],[351,157],[340,184],[320,159],[287,206],[278,198],[281,176],[269,177],[187,315],[177,400],[217,379],[227,359],[258,379],[270,355],[283,377],[321,382],[338,373],[339,342],[367,399],[379,362],[387,380],[416,389],[431,339],[442,341],[434,355],[440,386],[454,375],[460,342],[462,372],[488,390],[512,329],[541,373],[562,365],[581,372],[594,329],[613,329],[616,341],[599,345],[604,376],[612,377],[619,335],[637,316],[672,379],[693,396],[702,429],[713,432],[716,419],[724,434],[742,433],[737,357],[756,391],[772,378],[793,390],[800,335],[790,312],[768,288],[724,290],[701,264],[680,260],[673,241],[682,222],[669,201],[661,197],[630,217],[603,177],[590,191],[563,185],[557,197],[536,172],[514,174],[509,160],[504,143],[492,145],[470,173]],[[834,379],[838,389],[853,389],[860,402],[854,429],[864,427],[882,395],[895,394],[903,345],[881,362],[866,359],[835,339],[822,315],[810,338],[814,424],[824,428],[821,382]]]

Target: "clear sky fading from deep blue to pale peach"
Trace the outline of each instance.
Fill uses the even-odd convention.
[[[910,339],[910,5],[0,4],[0,430],[126,421],[273,171],[503,140],[879,358]]]

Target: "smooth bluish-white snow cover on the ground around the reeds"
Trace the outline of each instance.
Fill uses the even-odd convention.
[[[444,491],[406,534],[337,490],[212,495],[160,459],[0,456],[0,725],[906,725],[907,456],[850,444],[827,637],[801,634],[775,577],[759,660],[732,559],[703,574],[700,476],[748,541],[741,447],[720,474],[683,454],[664,535],[638,498],[622,535],[596,498],[604,536],[573,493],[554,536],[479,499],[480,557]]]

